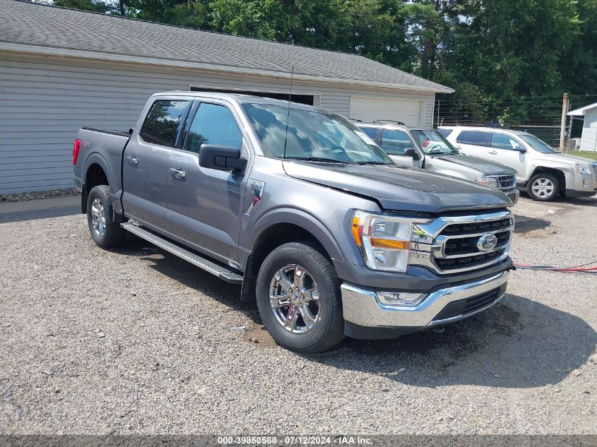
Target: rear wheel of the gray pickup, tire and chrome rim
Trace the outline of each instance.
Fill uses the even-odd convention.
[[[87,197],[87,223],[93,242],[102,249],[119,246],[126,240],[126,231],[114,222],[112,198],[107,185],[93,187]]]

